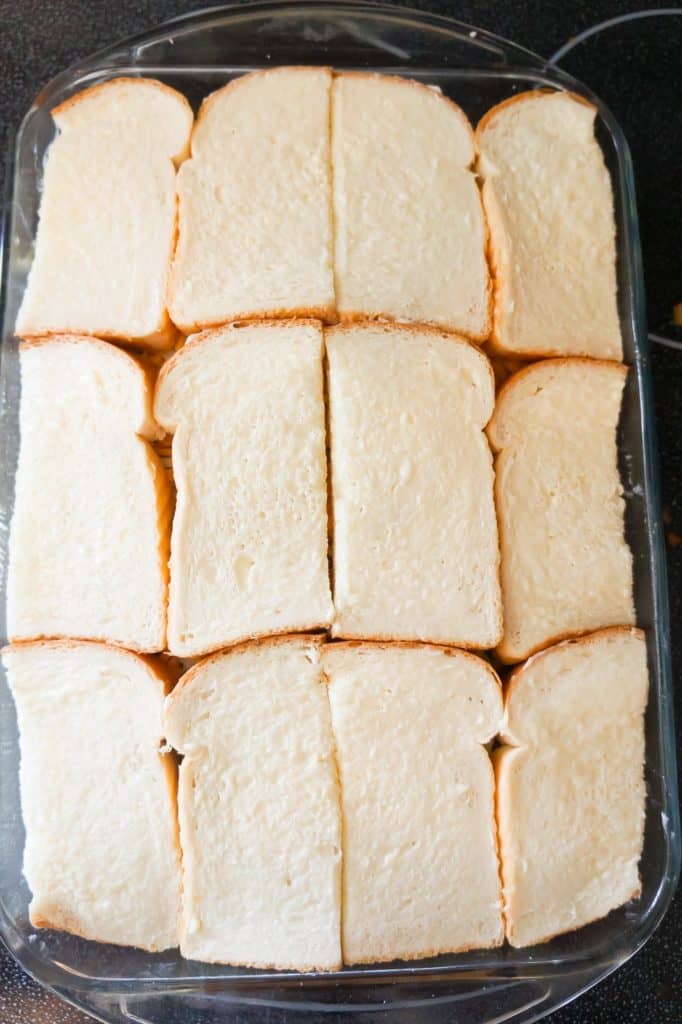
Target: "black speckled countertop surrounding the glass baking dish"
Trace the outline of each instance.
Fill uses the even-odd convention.
[[[18,125],[35,94],[57,72],[118,38],[209,3],[0,0],[3,157],[8,128]],[[412,0],[411,6],[450,14],[548,56],[591,25],[655,5],[641,0],[526,0],[504,6],[486,0]],[[682,342],[682,330],[675,334],[669,324],[673,303],[682,302],[682,19],[649,17],[613,28],[582,43],[562,67],[607,102],[626,131],[637,176],[649,328]],[[677,678],[682,669],[682,350],[654,345],[652,365]],[[677,698],[678,736],[682,735],[681,693],[682,688]],[[325,1015],[330,1024],[335,1017]],[[387,1019],[383,1013],[373,1017]],[[428,1013],[419,1018],[415,1014],[415,1022],[418,1019],[427,1024]],[[264,1009],[250,1014],[249,1020],[279,1024],[285,1018]],[[28,979],[0,947],[0,1024],[86,1021],[83,1014]],[[571,1007],[552,1015],[551,1021],[682,1024],[682,893],[640,953]]]

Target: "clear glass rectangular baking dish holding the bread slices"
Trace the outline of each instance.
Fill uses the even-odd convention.
[[[206,1024],[267,1009],[366,1014],[401,1011],[406,1021],[459,1024],[535,1021],[632,956],[660,922],[680,862],[666,562],[658,523],[649,352],[633,172],[628,146],[606,108],[540,57],[489,33],[383,4],[278,3],[214,8],[169,22],[53,79],[20,126],[5,205],[0,364],[0,632],[3,636],[7,527],[18,445],[18,366],[12,328],[32,259],[41,168],[53,136],[50,110],[117,75],[147,75],[194,104],[231,77],[280,63],[373,68],[438,85],[476,121],[524,89],[568,88],[599,111],[598,132],[613,181],[620,311],[630,374],[620,430],[627,534],[635,558],[639,624],[648,638],[651,694],[646,718],[647,813],[641,897],[607,919],[529,950],[508,947],[415,964],[346,969],[334,975],[205,966],[177,953],[147,954],[39,932],[28,923],[22,877],[24,829],[16,723],[0,678],[0,935],[37,980],[104,1021]],[[617,771],[617,752],[613,752]],[[96,779],[92,780],[96,785]],[[322,1019],[322,1017],[321,1017]]]

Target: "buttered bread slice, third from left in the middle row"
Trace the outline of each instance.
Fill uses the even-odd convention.
[[[502,634],[485,356],[428,328],[327,331],[333,633],[494,647]]]

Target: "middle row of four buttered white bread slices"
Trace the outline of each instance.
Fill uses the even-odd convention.
[[[190,338],[154,400],[106,342],[25,343],[20,364],[11,640],[196,657],[331,629],[518,662],[634,625],[621,364],[538,362],[496,404],[488,360],[455,335],[314,321]],[[164,430],[174,512],[150,444]]]

